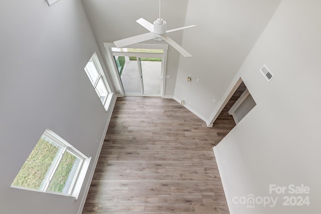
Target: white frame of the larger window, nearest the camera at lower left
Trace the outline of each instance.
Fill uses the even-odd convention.
[[[55,132],[53,132],[50,129],[46,129],[45,132],[43,133],[43,135],[45,135],[46,137],[53,140],[55,143],[62,146],[63,149],[61,149],[60,153],[58,154],[59,157],[57,158],[57,160],[53,160],[54,165],[52,168],[48,169],[42,185],[40,186],[39,189],[31,189],[31,188],[26,188],[26,187],[22,187],[22,186],[15,186],[15,185],[11,185],[11,187],[19,188],[19,189],[26,189],[26,190],[31,190],[31,191],[72,196],[72,197],[75,197],[75,199],[78,199],[80,189],[83,184],[86,172],[88,170],[91,157],[86,157],[84,154],[82,154],[75,147],[73,147],[71,144],[69,144],[67,141],[62,139],[59,135],[57,135]],[[56,170],[59,166],[59,163],[61,162],[61,159],[62,159],[65,152],[69,152],[72,155],[80,158],[80,163],[77,167],[76,173],[73,177],[73,180],[72,180],[72,183],[69,187],[68,193],[66,194],[66,193],[62,193],[62,192],[49,191],[48,188],[50,186],[51,180],[52,180],[53,176],[55,175],[55,172],[56,172]]]

